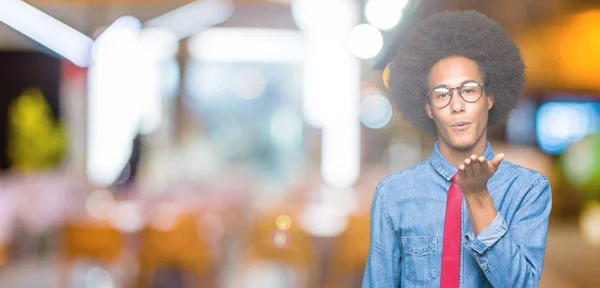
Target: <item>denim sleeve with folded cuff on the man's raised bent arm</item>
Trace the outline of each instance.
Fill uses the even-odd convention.
[[[464,235],[464,244],[493,287],[537,287],[544,266],[550,183],[539,176],[527,189],[510,226],[498,213],[479,233]]]

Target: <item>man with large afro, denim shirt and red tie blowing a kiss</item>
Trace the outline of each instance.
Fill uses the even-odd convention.
[[[363,287],[536,287],[551,190],[487,141],[523,91],[519,48],[475,12],[434,14],[390,65],[402,115],[437,136],[431,157],[385,177],[371,207]]]

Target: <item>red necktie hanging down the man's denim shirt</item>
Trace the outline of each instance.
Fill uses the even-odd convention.
[[[452,184],[448,189],[448,201],[446,202],[441,288],[458,288],[462,192],[458,188],[458,184],[456,184],[457,178],[458,172],[452,177]]]

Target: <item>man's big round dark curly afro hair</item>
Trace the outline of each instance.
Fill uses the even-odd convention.
[[[390,64],[388,86],[406,120],[437,135],[425,113],[429,73],[438,61],[463,56],[479,66],[486,93],[494,96],[488,126],[503,122],[516,107],[525,83],[525,65],[519,47],[494,20],[477,11],[446,11],[412,27]]]

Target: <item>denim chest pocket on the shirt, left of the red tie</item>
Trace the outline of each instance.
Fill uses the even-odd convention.
[[[424,286],[440,276],[436,236],[403,236],[404,262],[402,274],[406,280]]]

